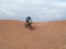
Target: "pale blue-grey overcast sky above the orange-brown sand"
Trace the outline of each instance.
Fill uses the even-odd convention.
[[[66,0],[0,0],[0,20],[66,20]]]

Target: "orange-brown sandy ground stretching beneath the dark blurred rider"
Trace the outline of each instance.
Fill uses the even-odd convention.
[[[0,49],[66,49],[66,21],[34,23],[0,21]]]

